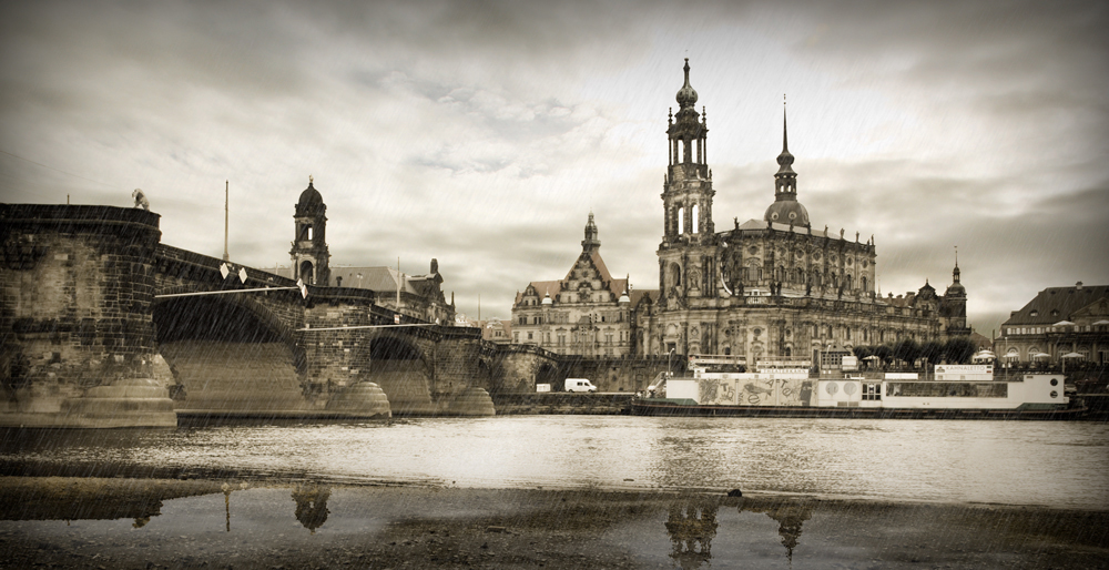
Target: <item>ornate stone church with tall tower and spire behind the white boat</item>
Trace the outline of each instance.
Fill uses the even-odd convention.
[[[828,346],[851,348],[913,338],[969,335],[966,289],[956,264],[944,295],[925,283],[905,296],[875,288],[873,236],[862,241],[814,228],[797,200],[797,173],[783,115],[774,202],[762,220],[718,232],[712,221],[708,125],[698,93],[685,83],[669,120],[670,164],[662,190],[659,301],[637,327],[642,354],[729,354],[803,358]],[[639,307],[637,307],[639,308]],[[644,315],[645,316],[645,315]]]

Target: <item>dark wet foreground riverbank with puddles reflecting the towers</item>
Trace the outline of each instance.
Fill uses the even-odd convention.
[[[226,487],[225,487],[226,485]],[[0,478],[6,568],[1103,568],[1109,512],[746,493]]]

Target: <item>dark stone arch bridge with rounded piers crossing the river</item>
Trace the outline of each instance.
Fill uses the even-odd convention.
[[[287,278],[162,244],[159,220],[0,204],[0,425],[484,415],[477,388],[531,391],[560,374],[546,350],[397,315],[367,289],[304,297]],[[264,288],[276,291],[245,291]]]

